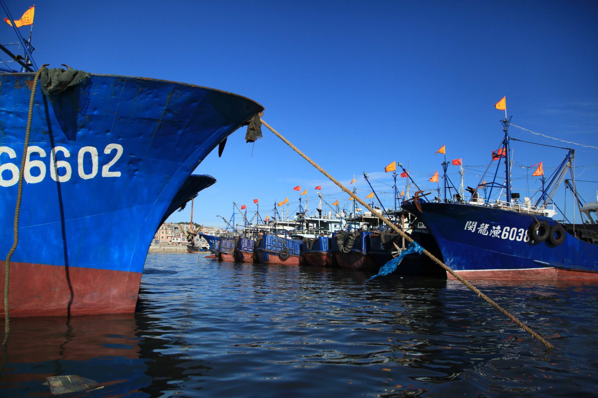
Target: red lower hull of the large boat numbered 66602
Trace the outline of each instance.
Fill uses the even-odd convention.
[[[2,275],[4,265],[0,261]],[[10,316],[134,313],[140,282],[141,273],[11,262]],[[0,293],[4,296],[4,284]]]

